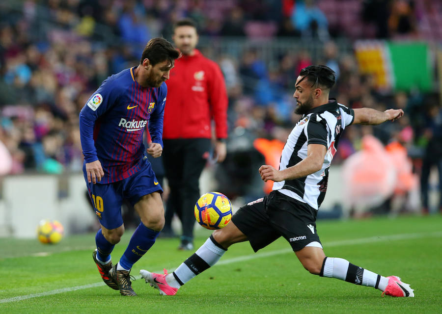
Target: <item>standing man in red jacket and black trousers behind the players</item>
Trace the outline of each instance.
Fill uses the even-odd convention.
[[[193,250],[193,208],[199,198],[199,177],[210,156],[212,121],[214,157],[226,155],[227,92],[219,66],[195,49],[198,34],[190,19],[178,21],[172,39],[182,57],[175,61],[167,81],[164,113],[164,166],[170,187],[164,232],[171,232],[173,213],[181,219],[179,249]]]

